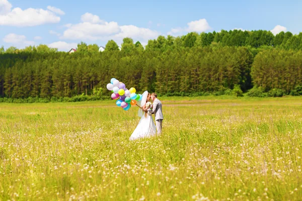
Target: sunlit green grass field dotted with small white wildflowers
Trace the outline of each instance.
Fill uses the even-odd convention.
[[[302,97],[165,97],[163,112],[163,135],[129,142],[134,107],[0,104],[0,200],[301,199]]]

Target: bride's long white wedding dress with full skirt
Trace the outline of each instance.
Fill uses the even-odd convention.
[[[150,137],[156,134],[156,126],[152,118],[152,110],[147,111],[147,115],[142,115],[137,127],[130,136],[130,140]]]

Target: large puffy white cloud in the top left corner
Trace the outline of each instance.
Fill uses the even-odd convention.
[[[60,17],[49,10],[14,8],[7,0],[0,0],[0,25],[30,27],[47,23],[58,23]]]

